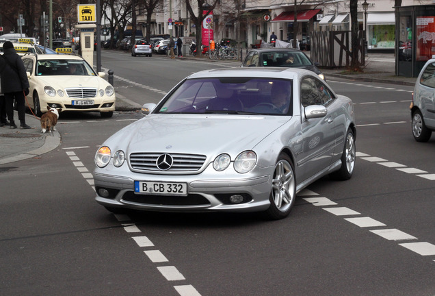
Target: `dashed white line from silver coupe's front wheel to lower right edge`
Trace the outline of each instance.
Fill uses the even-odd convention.
[[[365,153],[359,153],[361,155],[367,155]],[[298,196],[305,196],[307,195],[306,189],[302,190],[301,193],[298,193]],[[317,195],[317,193],[315,193]],[[331,201],[330,199],[326,197],[303,197],[305,201],[308,201],[310,204],[313,204],[313,206],[330,206],[330,205],[337,205],[336,202]],[[332,214],[335,214],[336,216],[353,216],[360,214],[359,212],[356,212],[350,208],[346,207],[336,207],[336,208],[322,208],[323,210],[326,210],[327,212],[330,212]],[[386,224],[377,221],[375,219],[372,219],[370,217],[351,217],[351,218],[344,218],[345,221],[349,221],[351,223],[354,223],[355,225],[364,228],[364,227],[383,227],[386,226]],[[402,232],[401,230],[397,229],[385,229],[381,228],[378,230],[370,230],[373,234],[377,234],[378,236],[381,236],[382,238],[385,238],[386,240],[417,240],[415,236],[412,236],[410,234],[407,234],[406,232]],[[406,249],[410,249],[411,251],[414,251],[414,253],[417,253],[421,256],[434,256],[435,255],[435,245],[432,245],[431,243],[427,242],[416,242],[416,243],[399,243],[402,247],[406,247]],[[435,262],[435,260],[433,260]]]

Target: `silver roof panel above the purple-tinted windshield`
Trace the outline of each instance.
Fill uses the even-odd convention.
[[[194,73],[187,77],[188,79],[196,78],[217,78],[217,77],[254,77],[254,78],[285,78],[294,79],[302,75],[311,75],[317,77],[313,71],[298,68],[276,68],[276,67],[258,67],[258,68],[229,68],[229,69],[211,69]]]

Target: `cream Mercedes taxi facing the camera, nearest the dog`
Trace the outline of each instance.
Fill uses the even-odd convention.
[[[71,49],[69,49],[71,50]],[[100,112],[111,117],[115,92],[83,58],[68,54],[26,55],[22,57],[29,77],[28,103],[37,116],[47,107],[63,111]]]

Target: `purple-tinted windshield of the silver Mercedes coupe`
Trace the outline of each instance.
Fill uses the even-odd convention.
[[[291,115],[291,80],[222,77],[187,79],[157,113]]]

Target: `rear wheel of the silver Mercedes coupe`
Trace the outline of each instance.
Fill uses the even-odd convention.
[[[330,174],[335,180],[349,180],[355,169],[356,160],[355,136],[352,129],[347,130],[343,153],[341,154],[341,167]]]

